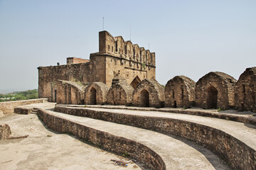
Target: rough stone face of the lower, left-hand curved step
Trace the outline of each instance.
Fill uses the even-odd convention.
[[[110,152],[117,154],[128,153],[129,157],[143,162],[151,169],[166,169],[166,165],[161,157],[149,147],[146,147],[139,142],[89,128],[80,123],[76,123],[75,121],[60,118],[41,108],[38,109],[37,115],[38,118],[52,130],[75,135],[82,140],[86,140],[87,142]]]

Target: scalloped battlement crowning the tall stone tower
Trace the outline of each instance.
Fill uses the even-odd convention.
[[[113,37],[106,30],[99,33],[99,54],[112,55],[134,62],[155,66],[155,53],[132,44],[130,40],[124,41],[122,36]]]

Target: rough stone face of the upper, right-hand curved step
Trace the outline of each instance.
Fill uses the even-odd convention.
[[[181,136],[207,147],[228,162],[234,169],[256,169],[255,149],[221,130],[206,125],[172,118],[92,111],[86,108],[57,106],[55,111]]]

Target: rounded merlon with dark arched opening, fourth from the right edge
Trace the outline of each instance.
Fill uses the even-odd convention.
[[[132,94],[134,106],[157,107],[164,105],[164,87],[154,79],[144,79]]]

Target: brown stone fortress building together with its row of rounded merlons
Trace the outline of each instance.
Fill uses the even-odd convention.
[[[184,76],[165,88],[156,81],[155,53],[99,33],[99,52],[90,60],[68,57],[67,64],[38,67],[39,98],[64,104],[110,104],[143,107],[235,108],[256,112],[256,67],[238,81],[210,72],[197,82]]]

